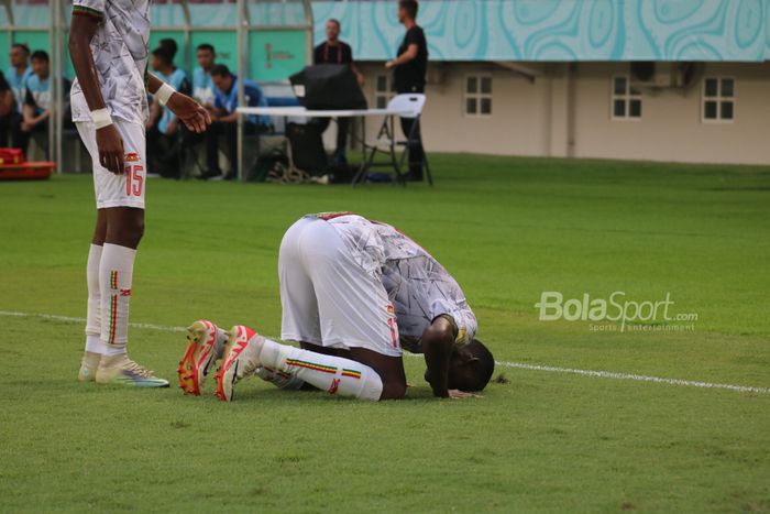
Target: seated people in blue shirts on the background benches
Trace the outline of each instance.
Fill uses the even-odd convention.
[[[217,64],[216,50],[204,43],[196,48],[198,66],[193,72],[193,81],[184,69],[175,64],[178,47],[174,40],[161,40],[151,52],[150,67],[161,80],[174,89],[191,95],[211,113],[213,123],[205,134],[194,134],[167,107],[161,107],[150,96],[150,117],[146,122],[147,156],[150,169],[165,177],[178,177],[182,173],[185,152],[196,144],[205,144],[206,164],[201,178],[233,178],[238,175],[235,154],[235,131],[238,118],[238,76],[223,64]],[[47,154],[47,130],[51,114],[51,62],[45,51],[31,52],[22,43],[10,51],[11,66],[0,72],[0,146],[21,149],[29,152],[30,140],[36,134],[37,144]],[[70,81],[63,79],[65,105],[63,123],[72,128],[72,116],[66,101],[69,98]],[[266,106],[266,98],[260,86],[250,79],[244,80],[248,106]],[[256,134],[270,129],[270,119],[250,116],[245,120],[244,133]],[[224,152],[231,162],[224,175],[219,166],[219,143],[224,140]]]

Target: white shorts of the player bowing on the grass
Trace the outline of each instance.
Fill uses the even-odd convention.
[[[282,339],[402,356],[395,310],[382,281],[353,260],[326,221],[302,218],[286,231],[278,275]]]

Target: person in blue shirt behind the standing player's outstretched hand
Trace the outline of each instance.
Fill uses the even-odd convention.
[[[174,66],[174,53],[167,46],[158,46],[152,52],[150,66],[153,74],[177,91],[189,94],[187,74]],[[147,120],[148,171],[164,177],[179,177],[179,133],[182,124],[167,107],[153,102]]]

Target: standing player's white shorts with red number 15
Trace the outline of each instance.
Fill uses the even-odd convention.
[[[144,209],[146,186],[146,135],[144,125],[113,118],[118,133],[123,140],[125,173],[116,175],[99,164],[96,144],[96,128],[90,121],[75,123],[82,144],[86,145],[94,165],[94,189],[97,209],[110,207],[136,207]]]

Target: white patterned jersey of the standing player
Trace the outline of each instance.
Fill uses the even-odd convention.
[[[91,53],[110,114],[143,124],[147,118],[144,74],[150,43],[150,0],[74,0],[73,10],[100,20],[91,40]],[[73,121],[91,121],[77,80],[70,97]]]

